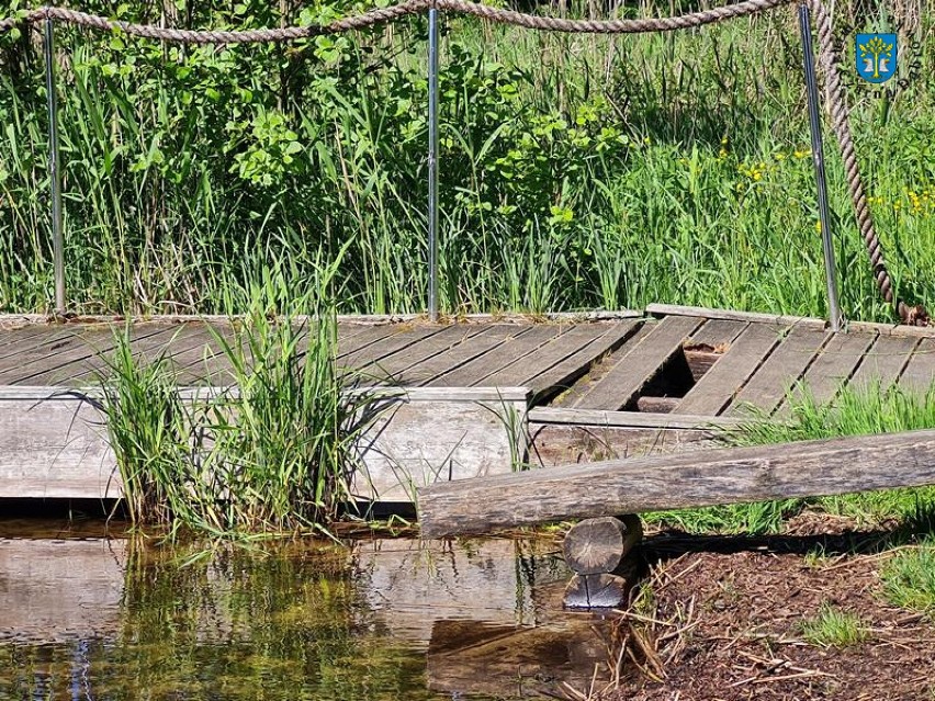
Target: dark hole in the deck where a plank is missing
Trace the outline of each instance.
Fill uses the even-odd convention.
[[[671,414],[718,359],[726,344],[689,344],[680,348],[660,366],[635,400],[624,410]]]

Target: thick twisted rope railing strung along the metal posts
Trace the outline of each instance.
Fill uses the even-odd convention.
[[[505,8],[494,8],[476,2],[469,2],[467,0],[404,0],[404,2],[395,5],[369,10],[329,23],[239,31],[179,30],[150,24],[135,24],[132,22],[109,20],[77,10],[48,7],[32,10],[20,16],[0,20],[0,33],[8,32],[22,24],[58,21],[99,31],[122,32],[140,38],[183,44],[221,45],[293,42],[314,36],[364,30],[387,22],[394,22],[405,16],[423,14],[435,9],[536,31],[571,34],[639,34],[699,27],[714,22],[758,14],[775,8],[792,4],[797,1],[807,4],[816,21],[819,65],[824,79],[827,111],[844,162],[857,226],[870,260],[877,289],[903,323],[920,326],[925,325],[928,323],[928,315],[924,307],[921,305],[909,306],[903,301],[897,298],[893,292],[892,279],[883,259],[882,247],[874,225],[860,169],[857,163],[854,139],[849,126],[849,109],[841,81],[841,59],[834,46],[831,18],[822,0],[743,0],[742,2],[699,12],[667,18],[634,20],[568,20],[517,12]]]

